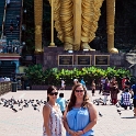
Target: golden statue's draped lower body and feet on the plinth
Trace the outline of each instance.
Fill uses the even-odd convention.
[[[95,37],[98,21],[101,15],[100,8],[104,0],[53,1],[49,0],[50,3],[54,3],[55,27],[58,32],[58,38],[64,43],[64,49],[95,50],[89,46],[89,43]],[[110,2],[110,0],[106,1]],[[109,32],[110,30],[107,29]],[[111,48],[107,48],[110,52]],[[112,48],[114,47],[112,46]]]

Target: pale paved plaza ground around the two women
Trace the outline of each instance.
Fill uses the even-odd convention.
[[[90,95],[91,92],[89,91]],[[46,91],[18,91],[9,92],[1,98],[15,100],[46,100]],[[70,91],[65,91],[65,98],[69,99]],[[103,98],[95,94],[91,100]],[[110,98],[109,98],[110,99]],[[136,118],[133,117],[133,110],[123,110],[115,105],[95,105],[98,112],[103,116],[99,116],[98,124],[94,127],[95,136],[136,136]],[[21,107],[21,106],[20,106]],[[32,105],[20,111],[19,106],[13,112],[10,107],[0,104],[0,136],[42,136],[43,116],[42,107],[39,112]],[[116,110],[121,110],[120,115]],[[65,135],[64,135],[65,136]]]

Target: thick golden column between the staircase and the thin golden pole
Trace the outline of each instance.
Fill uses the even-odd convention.
[[[42,53],[43,0],[34,0],[35,53]]]

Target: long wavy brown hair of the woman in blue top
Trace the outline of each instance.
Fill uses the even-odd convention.
[[[75,95],[75,90],[78,88],[78,87],[82,87],[83,90],[84,90],[84,95],[83,95],[83,102],[82,102],[82,107],[87,107],[88,106],[88,103],[89,103],[89,97],[87,94],[87,90],[86,88],[81,84],[81,83],[77,83],[72,87],[72,92],[71,92],[71,97],[70,97],[70,101],[68,103],[68,111],[70,111],[75,104],[76,104],[76,95]]]

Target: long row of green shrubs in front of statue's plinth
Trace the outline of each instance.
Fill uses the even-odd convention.
[[[131,77],[131,72],[124,68],[107,67],[106,69],[102,69],[94,66],[82,69],[73,68],[72,70],[59,70],[58,68],[43,70],[42,65],[34,65],[30,66],[25,70],[25,73],[32,84],[55,86],[60,84],[61,79],[66,81],[66,84],[72,84],[75,78],[79,79],[79,81],[83,78],[87,84],[90,86],[93,79],[99,83],[101,77],[107,77],[109,79],[116,77],[118,83],[121,83],[123,77]]]

